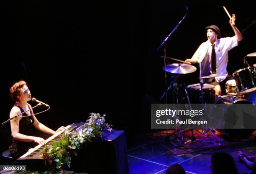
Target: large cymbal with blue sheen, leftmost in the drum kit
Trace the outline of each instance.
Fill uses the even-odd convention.
[[[197,68],[195,66],[188,64],[173,63],[166,65],[166,72],[171,72],[173,74],[189,74],[195,72],[196,70]]]

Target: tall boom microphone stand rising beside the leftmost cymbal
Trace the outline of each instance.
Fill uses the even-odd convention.
[[[167,40],[171,37],[171,35],[174,33],[175,30],[177,30],[177,28],[179,27],[179,25],[182,23],[182,21],[186,18],[187,16],[187,12],[186,14],[182,17],[182,19],[179,21],[179,23],[174,27],[174,29],[172,30],[172,32],[170,32],[170,34],[164,39],[164,41],[161,43],[161,45],[159,45],[159,47],[157,48],[157,51],[159,51],[161,49],[161,47],[164,47],[164,79],[165,79],[165,86],[167,87],[167,75],[166,75],[166,42]],[[179,76],[178,76],[179,77]],[[168,90],[168,88],[167,88]],[[174,94],[173,94],[174,95]],[[164,95],[162,96],[164,97]],[[161,97],[161,98],[162,98]],[[165,93],[165,104],[167,106],[167,92]],[[174,129],[175,130],[175,129]],[[176,134],[176,132],[174,133]],[[169,141],[170,137],[168,136],[168,128],[166,129],[166,141]],[[173,144],[173,143],[172,143]],[[178,144],[174,144],[176,147],[179,147]]]

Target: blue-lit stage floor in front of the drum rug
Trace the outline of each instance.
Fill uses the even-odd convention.
[[[156,136],[157,134],[159,136]],[[236,161],[238,172],[243,174],[250,172],[250,169],[238,162],[238,152],[256,154],[256,141],[253,140],[175,156],[170,150],[177,147],[171,142],[166,142],[164,138],[163,132],[127,136],[129,174],[165,174],[169,165],[175,163],[181,164],[187,174],[210,174],[211,155],[219,151],[231,154]]]

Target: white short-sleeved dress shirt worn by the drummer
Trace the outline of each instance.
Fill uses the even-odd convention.
[[[224,37],[218,39],[215,43],[216,53],[216,73],[218,75],[228,75],[228,51],[238,45],[236,36]],[[200,65],[200,77],[211,74],[211,55],[212,55],[212,43],[210,40],[203,42],[192,56],[192,60],[196,60]],[[215,77],[217,82],[225,80],[223,77]],[[201,80],[203,82],[203,80]]]

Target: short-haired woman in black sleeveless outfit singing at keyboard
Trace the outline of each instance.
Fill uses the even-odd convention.
[[[31,93],[25,81],[20,80],[10,88],[10,97],[15,102],[10,111],[10,118],[31,108],[31,105],[27,103],[31,100]],[[56,131],[53,131],[46,127],[36,119],[32,109],[22,116],[26,115],[32,116],[19,117],[10,121],[13,141],[9,149],[10,154],[15,159],[25,154],[31,147],[34,147],[34,143],[46,143],[45,139],[35,136],[36,129],[50,135],[65,129],[65,127],[61,126]]]

